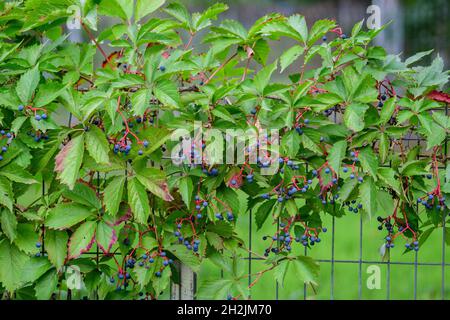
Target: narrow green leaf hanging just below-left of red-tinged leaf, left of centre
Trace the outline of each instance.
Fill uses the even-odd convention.
[[[146,224],[150,215],[148,195],[136,177],[128,181],[128,201],[136,222]]]

